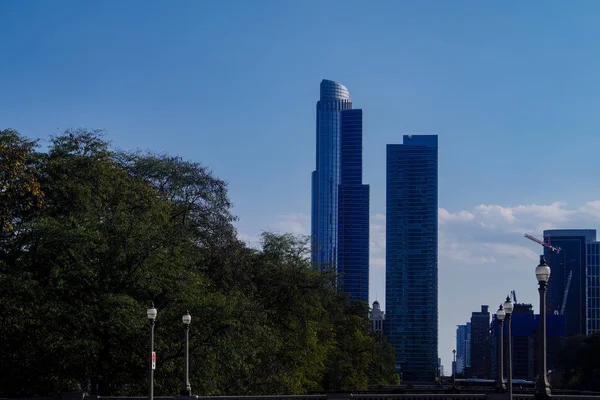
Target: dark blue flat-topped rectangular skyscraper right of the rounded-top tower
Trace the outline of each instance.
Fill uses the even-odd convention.
[[[386,324],[405,380],[432,381],[438,359],[438,138],[387,145]]]

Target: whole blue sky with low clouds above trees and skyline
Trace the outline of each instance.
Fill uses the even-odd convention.
[[[600,2],[2,1],[0,127],[208,165],[240,235],[308,233],[323,78],[364,110],[371,298],[384,303],[385,145],[440,143],[440,356],[510,290],[536,304],[547,227],[600,227]]]

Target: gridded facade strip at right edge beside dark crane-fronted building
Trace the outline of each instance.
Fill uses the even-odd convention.
[[[600,331],[600,242],[587,245],[586,334]]]

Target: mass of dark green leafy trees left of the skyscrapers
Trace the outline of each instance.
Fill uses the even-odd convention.
[[[42,152],[4,130],[0,168],[0,396],[147,393],[149,300],[157,395],[181,388],[188,310],[194,394],[398,382],[368,305],[311,268],[305,238],[239,241],[226,184],[203,165],[115,151],[98,131]]]

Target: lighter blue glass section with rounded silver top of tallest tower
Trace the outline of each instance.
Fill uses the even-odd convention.
[[[317,168],[312,173],[311,250],[317,268],[337,268],[341,114],[352,109],[348,89],[324,79],[317,102]]]

